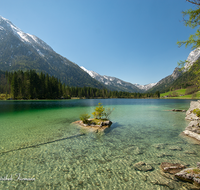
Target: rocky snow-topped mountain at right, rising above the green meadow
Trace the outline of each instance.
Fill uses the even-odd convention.
[[[186,60],[186,64],[183,69],[176,67],[171,75],[161,79],[153,88],[149,89],[148,92],[156,92],[156,91],[167,92],[167,91],[175,88],[175,86],[176,86],[176,88],[178,88],[179,83],[181,83],[181,85],[179,85],[180,88],[182,88],[184,86],[187,87],[187,85],[184,85],[184,83],[188,83],[189,78],[190,78],[190,80],[192,80],[191,77],[193,75],[190,72],[190,69],[198,61],[199,57],[200,57],[200,48],[191,51]],[[187,79],[185,76],[187,76]],[[183,79],[185,79],[185,80],[183,80]],[[179,80],[181,82],[177,82]]]

